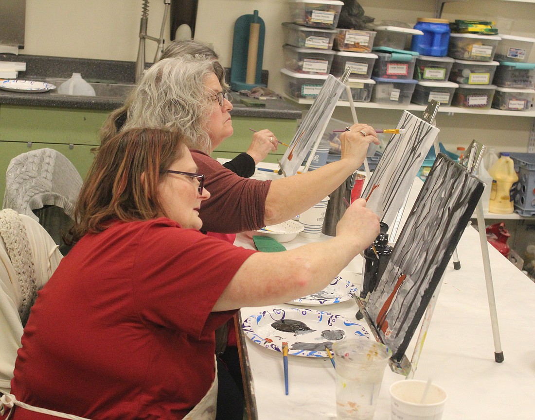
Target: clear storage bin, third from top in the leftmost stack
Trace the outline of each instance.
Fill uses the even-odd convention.
[[[313,48],[297,48],[284,45],[284,66],[293,72],[328,74],[331,71],[334,51]]]

